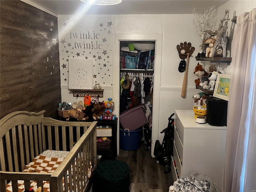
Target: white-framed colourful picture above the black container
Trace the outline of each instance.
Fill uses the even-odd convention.
[[[218,74],[214,87],[213,96],[228,101],[230,86],[230,75]]]

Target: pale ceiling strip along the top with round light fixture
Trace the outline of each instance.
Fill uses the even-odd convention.
[[[80,0],[28,0],[58,15],[71,14],[192,14],[204,13],[228,0],[122,0],[120,4],[100,6]]]

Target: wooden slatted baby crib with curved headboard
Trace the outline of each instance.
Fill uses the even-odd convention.
[[[44,112],[16,111],[0,120],[1,192],[23,192],[39,186],[42,192],[89,189],[97,165],[97,122],[60,121],[44,117]],[[38,165],[35,159],[41,160],[45,151],[66,152],[66,156],[50,157],[47,168],[55,167],[50,171],[24,171],[32,162]],[[52,165],[52,159],[59,164]]]

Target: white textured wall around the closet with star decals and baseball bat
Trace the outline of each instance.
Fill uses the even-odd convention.
[[[233,1],[230,0],[225,3],[223,6],[219,8],[218,18],[216,22],[216,28],[220,23],[220,19],[224,16],[224,11],[226,9],[230,10],[230,19],[233,17],[233,12],[236,11],[236,15],[241,14],[244,11],[250,11],[253,7],[255,7],[255,1]],[[72,96],[72,92],[68,91],[67,87],[67,79],[68,72],[65,68],[62,68],[62,61],[67,59],[66,50],[70,50],[73,52],[73,56],[76,56],[77,50],[69,48],[66,44],[62,44],[61,40],[65,39],[71,41],[69,38],[69,32],[71,29],[64,29],[64,22],[69,22],[74,26],[73,31],[79,32],[84,31],[97,31],[100,33],[100,40],[107,37],[107,44],[104,44],[103,50],[108,51],[109,58],[108,62],[112,62],[112,58],[114,55],[112,54],[112,38],[108,36],[108,32],[111,34],[162,34],[163,35],[163,45],[162,45],[162,65],[161,65],[161,83],[160,83],[160,111],[159,111],[159,134],[158,139],[162,142],[163,134],[160,134],[160,131],[166,128],[168,124],[168,117],[170,114],[174,112],[175,109],[191,109],[194,106],[192,96],[193,94],[200,92],[195,89],[194,80],[196,76],[193,74],[194,68],[198,61],[196,61],[195,56],[198,52],[200,52],[199,45],[201,40],[199,36],[196,34],[194,30],[194,26],[192,24],[193,15],[192,14],[173,14],[173,15],[89,15],[84,16],[80,20],[76,20],[76,23],[72,22],[73,18],[78,16],[72,15],[60,15],[58,17],[59,23],[59,42],[60,42],[60,69],[61,69],[61,86],[62,86],[62,101],[74,102],[76,98]],[[67,20],[68,18],[68,20]],[[108,22],[112,22],[112,26],[107,26]],[[103,24],[104,27],[99,27],[100,24]],[[228,23],[228,35],[230,32],[232,33],[232,22]],[[232,36],[231,36],[232,37]],[[188,88],[187,88],[187,96],[186,98],[182,98],[181,88],[182,82],[184,78],[184,73],[178,72],[178,66],[180,63],[180,58],[178,56],[178,51],[176,46],[181,42],[191,42],[192,46],[195,47],[195,51],[190,57],[190,62],[188,66]],[[101,42],[102,43],[102,42]],[[232,43],[232,39],[230,38],[228,42],[228,47]],[[102,43],[103,44],[103,43]],[[64,47],[65,46],[65,47]],[[93,58],[93,54],[95,50],[85,50],[84,54],[88,55],[88,58]],[[90,54],[89,52],[93,53]],[[95,54],[100,55],[101,52],[95,52]],[[97,55],[97,56],[98,56]],[[230,52],[228,52],[228,57],[230,56]],[[232,52],[231,52],[232,56]],[[103,56],[102,56],[103,57]],[[97,61],[98,62],[98,61]],[[67,64],[67,63],[65,63]],[[98,64],[98,63],[96,63]],[[102,66],[104,64],[101,63]],[[208,70],[208,66],[210,63],[204,62],[202,64],[206,65],[206,70]],[[68,64],[67,64],[68,66]],[[232,72],[232,62],[231,65],[228,66],[226,63],[220,64],[220,69],[226,71],[227,74]],[[107,73],[112,76],[111,71],[113,69],[111,66],[108,68],[102,67],[100,69],[99,66],[94,67],[94,74],[100,72],[102,74]],[[63,75],[64,74],[64,75]],[[108,97],[113,96],[112,92],[112,79],[106,78],[100,79],[100,75],[97,76],[99,78],[94,79],[102,85],[104,90],[104,98],[102,100],[106,100]],[[102,76],[104,77],[104,75]],[[66,81],[64,80],[66,78]],[[104,82],[104,84],[103,84]],[[115,98],[113,98],[114,101]],[[116,101],[118,102],[118,101]]]

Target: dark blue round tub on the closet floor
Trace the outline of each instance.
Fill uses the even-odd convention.
[[[140,148],[141,140],[140,134],[142,132],[142,128],[129,131],[129,130],[120,130],[119,138],[120,138],[120,148],[126,151],[137,150]]]

